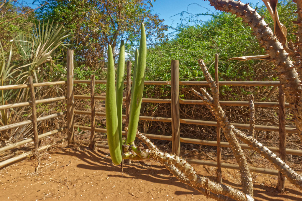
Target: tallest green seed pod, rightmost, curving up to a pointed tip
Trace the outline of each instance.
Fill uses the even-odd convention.
[[[135,71],[135,78],[133,79],[133,92],[131,94],[130,104],[130,117],[129,117],[129,128],[127,136],[127,144],[132,143],[136,137],[138,119],[140,117],[140,107],[142,105],[144,81],[145,81],[145,69],[146,69],[146,54],[147,54],[147,44],[146,44],[146,33],[144,24],[141,24],[140,32],[140,50],[137,61],[137,68]]]

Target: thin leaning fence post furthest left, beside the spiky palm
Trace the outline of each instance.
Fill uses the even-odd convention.
[[[28,77],[28,83],[30,86],[30,93],[31,93],[31,111],[32,111],[32,118],[33,118],[34,145],[35,145],[35,151],[37,151],[37,149],[39,148],[39,138],[38,138],[37,110],[36,110],[36,99],[35,99],[33,76]]]

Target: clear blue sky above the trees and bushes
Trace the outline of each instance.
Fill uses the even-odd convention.
[[[35,5],[32,3],[33,0],[23,0],[24,5],[30,6],[31,8],[37,8],[37,2]],[[258,6],[262,5],[263,2],[261,0],[242,0],[241,2],[246,3],[250,2],[253,5],[259,2]],[[153,8],[152,12],[155,14],[158,14],[161,19],[164,19],[164,24],[176,27],[177,24],[181,23],[180,20],[180,13],[183,11],[188,12],[188,14],[185,14],[185,17],[188,17],[190,14],[200,14],[200,13],[206,13],[206,12],[215,12],[214,7],[210,6],[207,1],[203,0],[156,0],[154,2],[153,0]],[[216,11],[217,12],[217,11]],[[210,17],[208,16],[199,16],[198,19],[202,21],[208,20]],[[183,21],[183,23],[185,23]],[[191,24],[192,25],[192,24]],[[173,29],[169,29],[168,32],[172,32]]]

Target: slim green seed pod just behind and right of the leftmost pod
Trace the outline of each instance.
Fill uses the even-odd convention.
[[[125,45],[124,45],[124,40],[122,40],[122,42],[120,43],[120,54],[118,56],[117,78],[116,78],[116,106],[117,106],[118,134],[120,138],[120,145],[122,144],[124,69],[125,69]]]

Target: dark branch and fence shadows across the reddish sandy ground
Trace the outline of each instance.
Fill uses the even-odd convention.
[[[83,150],[78,150],[76,152],[69,151],[68,149],[62,149],[63,152],[56,152],[59,155],[70,155],[75,156],[84,163],[78,164],[77,168],[89,169],[95,171],[111,171],[111,172],[121,172],[120,165],[114,165],[110,159],[108,152],[103,152],[101,150],[91,151],[88,147]],[[175,191],[175,195],[200,195],[199,192],[194,190],[192,187],[187,186],[179,182],[175,177],[169,177],[169,171],[163,165],[149,165],[145,161],[132,161],[131,164],[124,164],[124,175],[108,174],[110,177],[124,177],[130,179],[141,179],[149,181],[152,183],[160,183],[167,185],[174,185],[186,189],[186,191]],[[125,175],[126,174],[126,175]],[[167,175],[167,176],[163,176]],[[216,181],[215,176],[206,176],[211,181]],[[240,185],[233,183],[230,180],[223,180],[223,184],[230,185],[231,187],[240,189]],[[286,189],[288,192],[296,195],[302,196],[302,193],[293,189]],[[254,199],[255,200],[271,200],[274,197],[276,201],[283,201],[284,199],[291,199],[293,201],[300,201],[300,198],[287,195],[285,193],[280,194],[276,192],[274,187],[261,186],[254,184]]]

